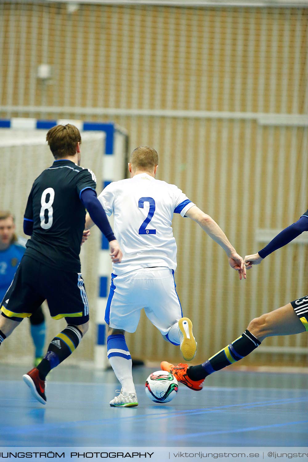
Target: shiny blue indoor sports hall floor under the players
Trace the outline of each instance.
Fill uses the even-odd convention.
[[[157,365],[159,369],[159,365]],[[155,368],[135,367],[134,408],[112,408],[111,370],[59,367],[47,405],[32,398],[20,366],[1,365],[0,446],[307,446],[308,375],[221,371],[193,392],[155,404],[144,391]]]

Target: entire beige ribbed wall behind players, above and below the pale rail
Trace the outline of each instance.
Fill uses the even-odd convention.
[[[308,207],[307,126],[288,126],[288,117],[286,125],[258,121],[260,113],[307,115],[307,18],[305,9],[81,5],[68,14],[63,4],[6,2],[0,117],[102,121],[110,116],[99,108],[157,110],[112,119],[127,128],[130,150],[158,150],[159,179],[183,189],[240,253],[256,252],[264,245],[257,228],[282,229]],[[41,63],[52,66],[47,85],[36,78]],[[46,106],[58,109],[40,110]],[[167,117],[164,109],[211,113]],[[176,216],[174,231],[177,290],[195,325],[197,362],[234,340],[254,316],[308,292],[306,244],[277,251],[240,282],[196,224]],[[137,332],[128,337],[133,356],[180,359],[145,319]],[[264,346],[305,347],[307,335]],[[243,364],[294,362],[307,366],[307,354],[256,353]]]

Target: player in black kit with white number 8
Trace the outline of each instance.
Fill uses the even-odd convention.
[[[67,327],[50,342],[41,363],[23,376],[42,404],[46,403],[48,372],[77,348],[88,330],[89,304],[79,260],[85,209],[109,240],[112,260],[117,263],[122,258],[97,200],[95,175],[79,166],[78,128],[57,125],[48,131],[46,140],[55,160],[33,183],[24,213],[24,232],[31,239],[0,310],[0,344],[45,299],[54,319],[66,319]]]

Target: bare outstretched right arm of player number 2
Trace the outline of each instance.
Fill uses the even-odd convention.
[[[196,206],[193,206],[187,210],[185,215],[198,223],[203,231],[205,231],[206,234],[208,234],[213,239],[213,241],[217,242],[217,244],[223,248],[223,250],[228,255],[230,267],[238,272],[240,280],[242,280],[242,278],[246,279],[246,268],[244,265],[244,260],[242,259],[241,255],[236,253],[236,249],[229,243],[229,240],[224,234],[223,230],[210,217],[210,215],[206,215],[206,213],[202,212],[202,210]]]

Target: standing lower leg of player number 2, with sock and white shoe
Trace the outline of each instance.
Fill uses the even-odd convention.
[[[132,374],[132,358],[125,341],[125,331],[108,329],[107,355],[115,376],[121,383],[121,393],[110,401],[110,406],[138,406],[135,385]]]

